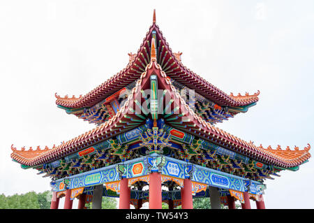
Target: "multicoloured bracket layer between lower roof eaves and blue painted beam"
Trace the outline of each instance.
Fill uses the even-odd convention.
[[[147,120],[146,124],[119,134],[110,140],[91,145],[79,152],[34,168],[38,169],[40,173],[45,173],[45,177],[57,179],[156,152],[252,180],[272,179],[271,175],[277,175],[276,173],[283,170],[283,168],[250,159],[215,143],[170,127],[164,124],[163,120],[158,120],[157,128],[153,129],[153,121]],[[154,142],[154,140],[156,141]],[[45,151],[47,150],[15,150],[15,160],[21,162],[22,156],[27,157],[27,154],[29,157],[36,156]],[[278,150],[273,152],[278,152]],[[298,150],[292,151],[290,157],[296,159],[302,153]],[[17,154],[20,154],[20,157],[16,157]],[[24,168],[27,167],[29,166],[24,166]],[[296,169],[290,168],[290,170]]]

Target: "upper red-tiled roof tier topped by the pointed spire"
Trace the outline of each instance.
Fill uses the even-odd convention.
[[[57,106],[66,109],[68,113],[74,113],[79,116],[84,113],[83,108],[91,108],[104,99],[111,97],[112,94],[121,91],[126,85],[135,82],[135,80],[140,78],[140,75],[150,62],[152,38],[156,40],[156,62],[165,71],[167,77],[189,89],[195,90],[197,94],[204,96],[204,98],[216,103],[216,105],[227,108],[232,116],[240,112],[246,112],[248,107],[255,105],[258,101],[260,92],[252,95],[246,93],[244,96],[241,94],[237,96],[234,96],[232,93],[226,94],[218,87],[204,80],[200,75],[186,68],[181,62],[181,53],[172,52],[172,49],[163,37],[163,33],[156,24],[156,15],[154,13],[153,24],[149,28],[137,53],[129,54],[130,59],[125,69],[113,75],[112,78],[106,80],[84,96],[61,97],[56,94]],[[103,120],[105,121],[107,118]]]

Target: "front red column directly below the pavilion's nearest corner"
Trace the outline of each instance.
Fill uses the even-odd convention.
[[[161,174],[149,174],[149,209],[161,209]]]

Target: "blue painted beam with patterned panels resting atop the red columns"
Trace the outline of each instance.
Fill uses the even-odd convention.
[[[190,178],[194,182],[200,182],[212,187],[234,189],[239,192],[250,192],[251,194],[263,194],[263,190],[266,189],[265,185],[255,180],[241,178],[237,175],[157,154],[139,157],[123,163],[59,179],[52,182],[52,187],[54,191],[60,192],[65,189],[90,187],[105,184],[106,182],[119,181],[121,176],[124,178],[136,178],[152,172],[181,179]]]

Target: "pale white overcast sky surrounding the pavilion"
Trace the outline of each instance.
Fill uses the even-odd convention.
[[[50,189],[11,161],[10,145],[52,147],[94,128],[54,93],[86,94],[124,69],[154,8],[189,69],[227,93],[260,90],[256,106],[218,127],[256,145],[313,145],[313,1],[0,1],[0,194]],[[266,207],[314,208],[313,178],[310,159],[267,180]]]

